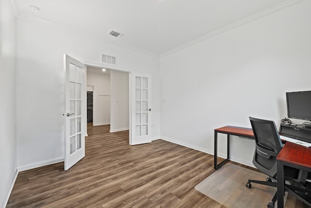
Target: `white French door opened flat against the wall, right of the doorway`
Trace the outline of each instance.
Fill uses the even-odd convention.
[[[130,145],[151,142],[151,75],[132,74]]]

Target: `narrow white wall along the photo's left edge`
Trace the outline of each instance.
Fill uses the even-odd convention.
[[[0,207],[5,207],[17,176],[15,12],[0,0]]]

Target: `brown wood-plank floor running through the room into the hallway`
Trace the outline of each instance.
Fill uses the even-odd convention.
[[[215,171],[212,155],[163,140],[130,146],[128,131],[109,128],[88,125],[86,156],[67,171],[19,172],[7,208],[225,208],[194,189]]]

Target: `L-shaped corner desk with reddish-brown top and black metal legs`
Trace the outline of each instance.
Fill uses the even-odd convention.
[[[227,158],[217,164],[217,134],[227,134]],[[254,132],[249,128],[225,126],[214,130],[214,169],[217,170],[229,161],[230,135],[255,139]],[[284,166],[311,171],[311,147],[306,148],[286,142],[276,157],[277,160],[277,208],[284,208]]]

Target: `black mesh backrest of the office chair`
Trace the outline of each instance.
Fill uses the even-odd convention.
[[[282,149],[274,121],[249,117],[256,141],[253,163],[261,171],[276,174],[276,156]],[[274,170],[272,170],[274,168]],[[270,172],[269,172],[270,170]]]

